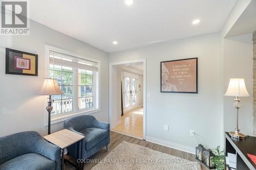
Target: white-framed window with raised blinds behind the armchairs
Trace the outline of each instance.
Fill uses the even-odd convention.
[[[99,63],[57,48],[47,50],[48,75],[57,80],[63,91],[63,94],[52,96],[52,118],[71,117],[99,109]]]

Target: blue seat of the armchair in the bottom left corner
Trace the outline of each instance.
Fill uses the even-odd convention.
[[[55,162],[38,154],[24,154],[0,165],[1,170],[54,170]]]

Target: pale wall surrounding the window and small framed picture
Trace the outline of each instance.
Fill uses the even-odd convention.
[[[109,121],[108,53],[31,20],[29,36],[0,36],[0,136],[28,130],[47,134],[44,96],[37,95],[45,78],[45,44],[101,61],[101,111],[93,115]],[[6,47],[38,54],[38,77],[6,75]],[[63,123],[52,125],[53,132],[62,128]]]

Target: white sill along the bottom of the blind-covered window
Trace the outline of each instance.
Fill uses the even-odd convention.
[[[65,120],[71,118],[71,117],[76,117],[79,115],[84,115],[84,114],[92,114],[92,113],[96,113],[99,112],[100,109],[92,109],[92,110],[88,110],[88,111],[81,111],[81,112],[76,112],[76,113],[70,113],[68,115],[59,115],[57,117],[51,118],[51,125],[56,124],[56,123],[60,123],[60,122],[64,122]],[[48,122],[45,122],[45,126],[48,126]]]

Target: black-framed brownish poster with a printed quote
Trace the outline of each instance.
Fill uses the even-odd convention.
[[[161,92],[198,93],[198,58],[161,62]]]

